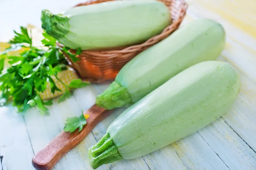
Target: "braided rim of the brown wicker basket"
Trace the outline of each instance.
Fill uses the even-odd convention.
[[[93,2],[96,2],[96,1],[97,0],[91,0],[90,3],[93,3]],[[186,15],[186,9],[188,8],[188,4],[185,2],[185,0],[163,0],[163,1],[167,1],[167,2],[168,1],[178,1],[180,3],[180,6],[183,6],[183,9],[184,9],[184,12],[179,17],[183,18]],[[84,3],[79,3],[79,4],[77,4],[76,6],[73,6],[73,7],[81,6],[81,4],[84,4]],[[112,57],[114,58],[116,54],[126,54],[126,53],[136,52],[137,51],[136,48],[138,46],[143,46],[143,45],[148,44],[148,42],[151,42],[154,39],[158,38],[159,36],[164,34],[170,26],[178,24],[178,22],[179,22],[178,20],[173,20],[173,22],[169,26],[167,26],[160,34],[157,34],[157,35],[149,38],[147,41],[145,41],[143,43],[140,43],[140,44],[137,44],[137,45],[131,45],[131,46],[125,47],[125,48],[120,49],[120,50],[104,50],[104,51],[81,50],[81,53],[88,54],[88,55],[93,55],[93,56],[99,56],[99,57],[103,57],[104,55],[107,55],[108,57],[111,57],[111,54],[113,54]],[[56,45],[58,45],[59,47],[64,47],[64,45],[62,45],[58,41],[56,42]],[[77,51],[76,49],[70,49],[70,52],[73,52],[74,54],[76,54],[76,51]]]

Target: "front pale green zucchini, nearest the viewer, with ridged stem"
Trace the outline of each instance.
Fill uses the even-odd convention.
[[[227,63],[193,65],[117,117],[90,147],[91,167],[134,159],[194,133],[227,112],[239,87],[239,77]]]

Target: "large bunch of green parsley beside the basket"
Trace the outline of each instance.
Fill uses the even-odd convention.
[[[8,99],[12,99],[13,105],[17,107],[18,112],[26,111],[30,107],[36,106],[42,115],[48,113],[47,106],[52,105],[52,101],[44,102],[39,93],[44,92],[47,88],[47,82],[50,83],[51,92],[61,91],[55,84],[52,77],[56,81],[61,82],[65,87],[64,94],[59,98],[59,102],[71,96],[70,89],[81,88],[88,83],[82,82],[81,79],[73,80],[66,85],[58,78],[58,72],[67,69],[67,61],[63,52],[69,54],[76,62],[77,54],[81,50],[77,50],[77,54],[72,54],[69,48],[60,48],[56,46],[55,38],[43,33],[44,40],[41,42],[48,47],[47,50],[34,47],[32,45],[32,37],[25,27],[20,27],[20,33],[15,32],[15,37],[9,41],[11,48],[26,47],[27,50],[22,52],[20,56],[10,56],[8,54],[0,55],[0,106],[6,105]],[[8,60],[11,67],[4,70],[4,61]]]

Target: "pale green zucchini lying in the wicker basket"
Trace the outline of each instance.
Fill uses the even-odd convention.
[[[123,48],[160,34],[172,23],[158,0],[116,0],[52,14],[43,10],[42,28],[63,45],[82,50]]]

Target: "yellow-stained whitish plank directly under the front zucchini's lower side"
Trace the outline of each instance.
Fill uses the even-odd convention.
[[[143,156],[151,169],[228,170],[198,133]]]

